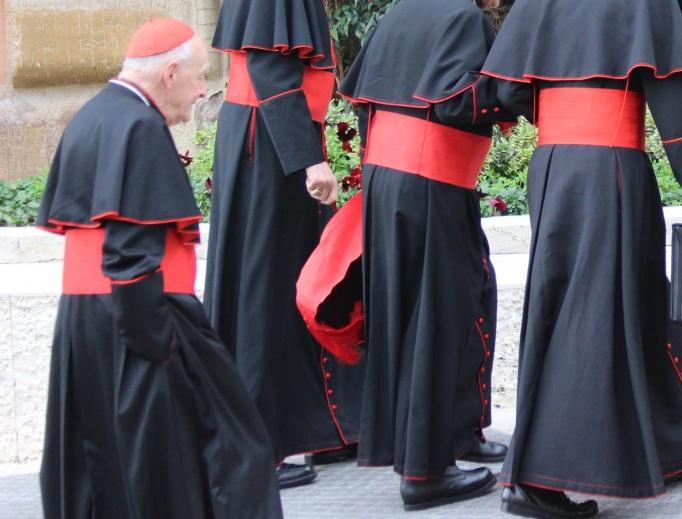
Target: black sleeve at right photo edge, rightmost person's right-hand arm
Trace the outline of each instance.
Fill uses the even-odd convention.
[[[657,79],[649,69],[640,69],[644,95],[661,134],[670,167],[682,184],[682,74]]]

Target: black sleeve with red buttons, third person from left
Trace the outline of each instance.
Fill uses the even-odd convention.
[[[455,97],[436,103],[432,110],[444,124],[494,124],[514,122],[516,117],[497,98],[500,81],[481,76],[474,85]]]

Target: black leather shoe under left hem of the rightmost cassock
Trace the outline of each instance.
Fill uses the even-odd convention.
[[[592,499],[575,503],[563,492],[516,485],[502,491],[502,511],[539,519],[586,519],[597,515],[599,507]]]

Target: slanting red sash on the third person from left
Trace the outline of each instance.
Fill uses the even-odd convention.
[[[377,110],[365,163],[473,189],[491,142],[489,137]]]

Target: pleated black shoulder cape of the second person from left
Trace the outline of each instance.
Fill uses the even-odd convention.
[[[212,47],[298,51],[315,68],[334,68],[324,0],[224,0]]]

